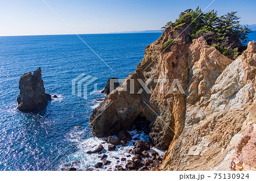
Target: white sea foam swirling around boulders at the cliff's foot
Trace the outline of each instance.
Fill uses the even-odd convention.
[[[90,137],[86,140],[76,139],[72,136],[72,141],[78,141],[77,143],[77,151],[73,154],[68,155],[67,161],[61,163],[59,169],[65,169],[66,167],[76,167],[78,170],[87,170],[92,168],[93,170],[116,170],[115,166],[120,165],[125,168],[127,160],[131,160],[133,158],[133,154],[127,153],[127,150],[133,149],[134,138],[139,138],[139,140],[148,141],[148,135],[139,131],[131,131],[129,132],[133,137],[133,140],[129,141],[126,146],[118,145],[114,151],[108,151],[108,142],[102,141],[101,138]],[[94,150],[99,145],[104,147],[104,150],[101,151],[101,154],[93,153],[87,154],[86,151]],[[155,150],[159,153],[159,155],[163,156],[164,151],[158,150],[156,148],[152,148],[151,150]],[[151,154],[151,150],[148,151]],[[107,159],[111,163],[109,165],[103,166],[101,169],[95,169],[94,165],[101,161],[101,156],[103,154],[108,155]],[[126,158],[126,161],[121,161],[121,158]],[[143,160],[146,158],[143,158]]]

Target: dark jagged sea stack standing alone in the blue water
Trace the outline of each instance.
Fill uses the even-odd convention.
[[[17,98],[19,111],[34,111],[39,108],[46,107],[51,95],[46,94],[44,90],[44,82],[42,80],[42,71],[40,68],[25,73],[20,77],[19,90],[20,94]]]

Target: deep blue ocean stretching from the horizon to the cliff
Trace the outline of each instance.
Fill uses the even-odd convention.
[[[100,91],[109,78],[122,81],[136,69],[145,47],[161,33],[80,36],[113,71],[76,35],[0,37],[0,170],[86,170],[100,162],[101,155],[86,154],[102,144],[89,127],[89,117],[100,104],[96,99],[105,97]],[[256,40],[256,32],[250,33],[249,40]],[[39,67],[46,92],[57,98],[38,113],[20,112],[16,110],[19,78]],[[82,73],[97,78],[97,90],[87,99],[72,94],[72,79]],[[94,90],[94,84],[88,90]],[[143,132],[130,134],[149,141]],[[124,167],[120,159],[131,159],[126,151],[133,142],[103,152],[112,163],[100,170],[114,170],[117,164]],[[106,143],[103,146],[108,148]]]

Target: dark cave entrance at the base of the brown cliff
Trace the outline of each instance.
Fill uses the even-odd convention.
[[[140,113],[134,120],[134,127],[133,129],[136,129],[138,131],[143,131],[144,133],[148,134],[150,121],[147,120],[146,116],[143,115],[143,113]]]

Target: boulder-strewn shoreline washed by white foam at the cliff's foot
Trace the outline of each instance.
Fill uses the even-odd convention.
[[[65,167],[62,170],[147,171],[157,170],[162,163],[163,151],[158,153],[150,142],[139,140],[137,137],[132,138],[126,131],[121,131],[117,136],[101,138],[101,144],[93,148],[86,151],[86,154],[92,154],[92,157],[99,160],[95,165],[81,169],[80,162],[77,161],[72,164],[72,167]],[[120,153],[119,150],[124,152]],[[110,167],[111,164],[112,167]]]

